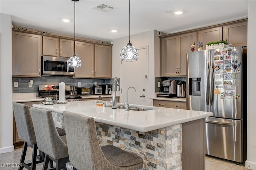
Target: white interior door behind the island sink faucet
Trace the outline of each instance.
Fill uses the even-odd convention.
[[[134,62],[122,62],[122,77],[120,79],[120,102],[127,101],[127,90],[129,87],[129,104],[148,105],[148,47],[137,48],[139,58]]]

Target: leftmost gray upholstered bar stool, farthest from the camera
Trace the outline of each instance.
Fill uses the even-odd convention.
[[[15,122],[16,122],[16,127],[17,127],[17,131],[18,131],[18,136],[24,140],[24,144],[23,144],[23,149],[22,149],[22,155],[20,158],[20,167],[19,170],[26,168],[26,169],[31,169],[34,170],[36,168],[36,164],[43,162],[43,158],[44,158],[44,153],[40,152],[40,155],[38,155],[38,158],[42,158],[42,160],[40,159],[39,161],[36,161],[36,154],[37,154],[37,144],[36,144],[36,136],[35,136],[35,132],[34,132],[34,127],[32,124],[32,119],[30,116],[30,108],[28,107],[28,105],[24,105],[21,103],[16,103],[13,102],[12,104],[13,106],[13,113],[14,113],[14,118],[15,118]],[[60,134],[60,136],[65,135],[66,132],[64,129],[61,128],[57,128],[58,133]],[[25,157],[26,157],[26,152],[27,152],[27,148],[28,146],[30,146],[31,148],[33,148],[33,152],[32,152],[32,162],[31,163],[24,163]],[[50,162],[50,167],[52,166],[52,162]]]

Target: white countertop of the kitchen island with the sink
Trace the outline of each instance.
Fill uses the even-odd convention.
[[[107,106],[111,106],[109,102],[106,102],[106,104]],[[117,104],[119,105],[122,103]],[[112,109],[112,107],[96,107],[96,100],[76,101],[54,105],[33,105],[33,107],[47,109],[58,113],[63,113],[63,111],[80,113],[93,117],[96,122],[137,130],[140,132],[148,132],[180,123],[203,119],[213,115],[213,113],[202,111],[189,111],[184,109],[171,109],[141,105],[135,106],[154,108],[154,110],[125,111],[125,109]]]

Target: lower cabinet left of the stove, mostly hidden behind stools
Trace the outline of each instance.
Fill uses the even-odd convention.
[[[21,104],[28,105],[28,107],[32,107],[33,104],[41,103],[40,101],[34,101],[34,102],[20,102]],[[13,115],[13,145],[14,148],[23,146],[23,140],[19,138],[18,131],[15,123],[15,118]]]

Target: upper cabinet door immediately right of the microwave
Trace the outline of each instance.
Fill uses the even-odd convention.
[[[76,42],[76,55],[82,60],[82,66],[75,68],[74,77],[93,77],[94,76],[94,44]]]

